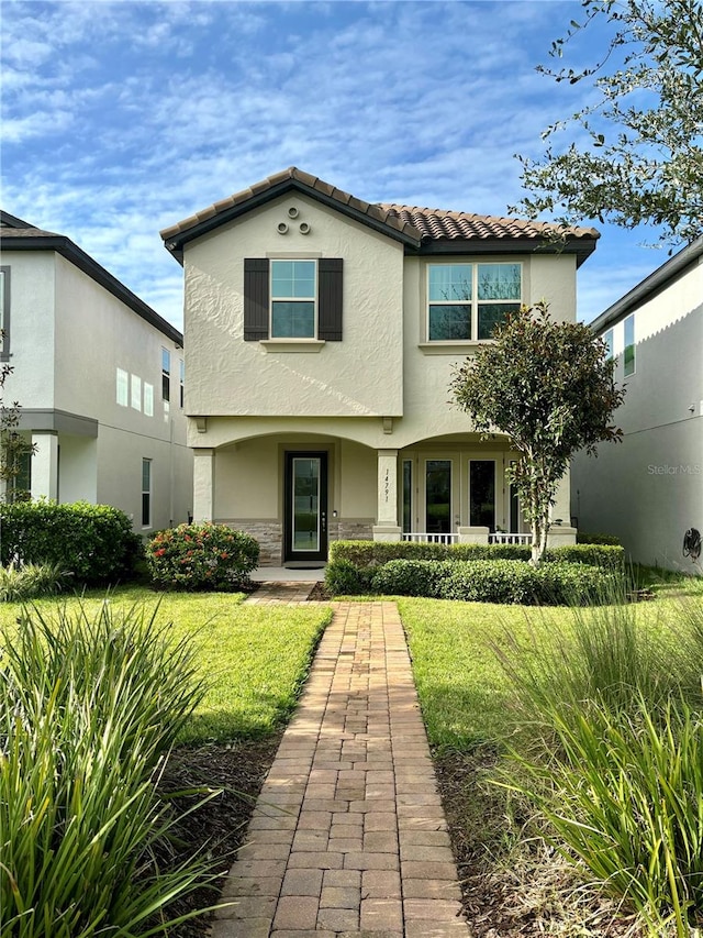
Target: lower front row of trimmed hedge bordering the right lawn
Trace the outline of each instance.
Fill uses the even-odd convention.
[[[376,569],[375,593],[526,606],[592,605],[613,596],[620,577],[581,563],[534,567],[510,560],[392,560]]]

